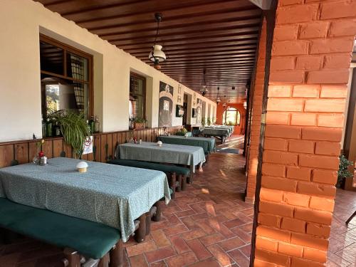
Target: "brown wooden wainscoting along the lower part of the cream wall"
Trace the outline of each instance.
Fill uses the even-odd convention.
[[[167,127],[166,130],[171,135],[182,129],[183,126]],[[156,142],[157,136],[164,133],[164,128],[150,128],[142,130],[127,130],[121,132],[103,132],[94,134],[93,153],[83,155],[82,159],[106,162],[112,158],[117,144],[122,144],[130,140],[130,135],[137,137],[137,140]],[[38,140],[19,140],[11,142],[0,142],[0,167],[8,167],[14,162],[24,164],[32,162],[33,157],[38,152],[36,142]],[[72,147],[63,141],[63,137],[45,138],[42,150],[46,157],[72,157]]]

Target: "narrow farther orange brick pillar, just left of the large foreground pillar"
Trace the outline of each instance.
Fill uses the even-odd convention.
[[[258,56],[256,63],[256,74],[253,81],[251,91],[252,103],[252,118],[250,130],[250,146],[247,159],[247,184],[246,184],[246,202],[253,202],[255,199],[256,190],[256,174],[258,164],[258,145],[260,143],[261,130],[261,112],[262,112],[262,97],[263,83],[265,79],[265,64],[266,64],[266,20],[263,20],[259,43]]]

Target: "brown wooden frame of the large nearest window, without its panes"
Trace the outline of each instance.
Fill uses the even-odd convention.
[[[63,73],[64,73],[63,75],[61,75],[58,73],[52,73],[50,71],[41,70],[41,66],[40,66],[41,74],[51,75],[53,77],[62,78],[65,80],[72,80],[73,82],[76,82],[76,83],[85,83],[86,85],[88,85],[88,95],[89,95],[88,119],[89,119],[91,116],[94,115],[93,55],[90,55],[90,53],[85,53],[83,51],[80,51],[77,48],[74,48],[73,46],[69,46],[66,43],[57,41],[56,39],[48,37],[42,33],[40,33],[40,38],[39,38],[38,44],[41,42],[48,43],[52,46],[56,46],[58,48],[63,49]],[[74,53],[75,55],[81,56],[88,60],[88,80],[78,80],[78,79],[75,79],[72,77],[68,77],[68,75],[67,75],[67,53],[68,52]],[[40,51],[40,56],[41,56],[41,51]],[[42,106],[42,101],[43,100],[41,99],[41,106]],[[47,107],[46,107],[46,110],[47,110]],[[45,113],[45,114],[47,114],[47,113]],[[45,116],[45,115],[43,114],[43,116]]]

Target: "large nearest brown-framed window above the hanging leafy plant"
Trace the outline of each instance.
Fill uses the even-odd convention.
[[[93,56],[40,36],[42,115],[78,110],[93,115]]]

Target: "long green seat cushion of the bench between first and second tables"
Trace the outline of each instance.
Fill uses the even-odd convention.
[[[190,174],[189,169],[185,167],[165,165],[165,164],[159,164],[153,162],[140,162],[138,160],[130,160],[130,159],[112,159],[108,161],[108,163],[127,166],[127,167],[136,167],[141,169],[155,169],[161,172],[175,172],[176,174],[182,174],[185,176],[189,176]]]

